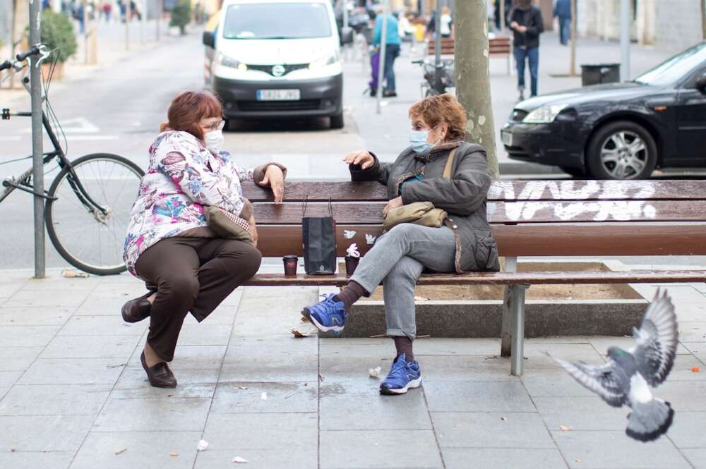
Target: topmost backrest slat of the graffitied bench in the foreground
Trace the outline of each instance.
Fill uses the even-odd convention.
[[[243,183],[252,202],[272,202],[270,190],[252,182]],[[387,200],[385,186],[376,182],[352,183],[287,181],[285,201]],[[522,200],[706,200],[706,181],[493,181],[488,193],[492,201]]]

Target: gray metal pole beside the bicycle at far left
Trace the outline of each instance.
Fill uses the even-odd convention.
[[[30,0],[30,46],[42,42],[40,20],[42,1]],[[35,194],[44,194],[44,162],[42,152],[42,68],[37,58],[30,59],[30,95],[32,97],[32,183]],[[44,254],[44,199],[35,195],[35,279],[43,279]]]

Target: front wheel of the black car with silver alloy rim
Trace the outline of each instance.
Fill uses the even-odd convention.
[[[618,121],[598,129],[586,159],[594,178],[645,179],[657,166],[657,145],[644,127]]]

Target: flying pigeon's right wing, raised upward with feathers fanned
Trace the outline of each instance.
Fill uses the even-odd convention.
[[[676,314],[666,291],[657,291],[634,335],[637,345],[630,352],[635,356],[638,371],[650,386],[657,386],[674,366],[678,346]]]

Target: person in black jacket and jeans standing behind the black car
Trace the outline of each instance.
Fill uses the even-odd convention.
[[[530,90],[537,96],[537,68],[539,68],[539,35],[544,32],[542,11],[532,6],[532,0],[517,0],[510,13],[510,29],[515,32],[515,61],[517,62],[517,90],[520,101],[525,99],[525,59],[530,63]]]

